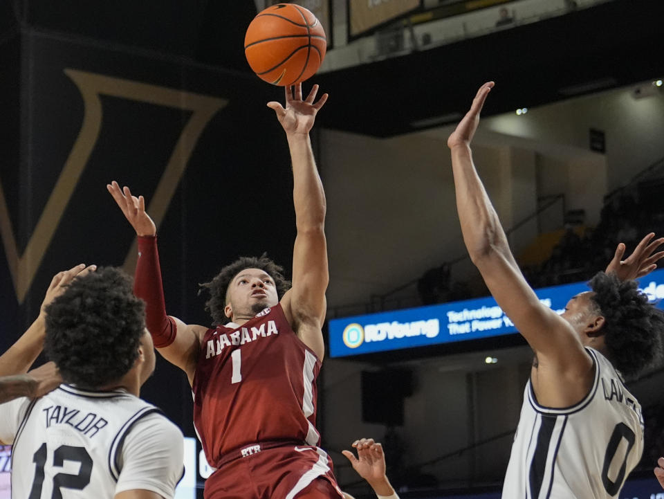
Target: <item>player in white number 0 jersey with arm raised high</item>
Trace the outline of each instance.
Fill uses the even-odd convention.
[[[508,246],[472,161],[470,142],[493,82],[484,84],[448,138],[463,241],[492,296],[535,352],[502,497],[614,498],[643,451],[643,418],[623,376],[658,356],[661,311],[634,278],[656,267],[663,239],[625,245],[564,313],[542,305]]]

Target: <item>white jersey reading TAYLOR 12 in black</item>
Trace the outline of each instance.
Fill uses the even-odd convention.
[[[20,421],[12,448],[14,499],[112,499],[131,489],[170,498],[182,476],[182,433],[127,392],[60,385],[2,410]]]

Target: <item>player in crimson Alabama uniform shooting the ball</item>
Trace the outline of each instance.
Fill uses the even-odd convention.
[[[327,95],[316,102],[317,85],[304,99],[301,85],[294,91],[286,87],[286,107],[268,103],[286,131],[293,165],[291,289],[265,255],[242,257],[203,285],[216,327],[167,316],[145,200],[116,182],[107,186],[138,235],[135,292],[147,302],[155,346],[192,385],[194,425],[217,469],[205,483],[206,499],[341,496],[314,426],[329,275],[325,196],[309,131]]]

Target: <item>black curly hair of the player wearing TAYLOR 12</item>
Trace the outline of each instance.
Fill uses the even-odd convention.
[[[122,378],[138,358],[145,303],[120,269],[75,278],[46,307],[44,351],[67,383],[96,390]]]

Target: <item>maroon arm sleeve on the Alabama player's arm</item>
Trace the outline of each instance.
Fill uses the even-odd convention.
[[[156,235],[138,236],[138,262],[133,293],[145,300],[145,325],[154,346],[163,348],[173,343],[177,326],[173,318],[166,314]]]

